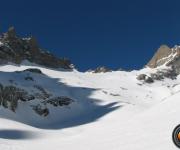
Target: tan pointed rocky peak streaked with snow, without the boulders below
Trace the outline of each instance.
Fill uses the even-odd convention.
[[[150,68],[162,65],[171,66],[180,74],[180,46],[169,48],[167,45],[162,45],[147,64]]]

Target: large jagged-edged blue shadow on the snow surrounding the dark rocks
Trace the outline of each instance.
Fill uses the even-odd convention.
[[[32,127],[56,130],[84,125],[94,122],[123,106],[119,102],[112,101],[103,104],[101,99],[92,98],[93,93],[100,89],[87,88],[81,85],[78,87],[70,86],[61,82],[63,79],[51,78],[44,74],[29,73],[34,81],[24,81],[26,73],[0,72],[0,74],[4,77],[4,79],[0,79],[0,83],[11,79],[15,82],[15,86],[18,85],[25,90],[28,90],[30,86],[32,88],[33,85],[40,85],[52,94],[58,93],[59,96],[66,96],[74,100],[69,106],[48,106],[49,115],[46,117],[39,116],[32,110],[31,101],[18,104],[16,113],[4,108],[0,110],[1,118],[15,120]],[[0,107],[2,108],[2,106]],[[5,133],[5,131],[1,132]],[[19,138],[21,135],[22,137],[26,135],[26,132],[15,132],[19,133]],[[6,131],[12,135],[15,132]]]

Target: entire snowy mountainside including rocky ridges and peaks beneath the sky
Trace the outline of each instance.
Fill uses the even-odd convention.
[[[74,69],[10,28],[0,37],[0,150],[174,150],[179,46],[146,68]]]

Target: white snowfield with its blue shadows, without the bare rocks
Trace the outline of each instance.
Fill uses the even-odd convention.
[[[38,68],[42,74],[23,72]],[[0,150],[176,150],[172,131],[180,124],[180,77],[148,84],[137,75],[155,70],[81,73],[35,66],[0,67],[0,83],[73,100],[48,105],[49,115],[32,110],[33,101],[15,112],[0,106]],[[20,72],[20,73],[19,73]],[[25,80],[26,77],[31,77]]]

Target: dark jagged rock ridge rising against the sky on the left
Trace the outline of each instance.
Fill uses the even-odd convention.
[[[34,37],[20,38],[13,27],[0,37],[0,64],[12,62],[20,64],[28,60],[50,68],[72,69],[70,60],[57,58],[53,54],[42,50]]]

